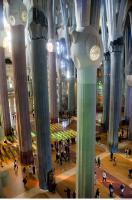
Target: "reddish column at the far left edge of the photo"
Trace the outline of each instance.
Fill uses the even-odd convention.
[[[5,53],[3,48],[3,1],[0,1],[0,103],[2,107],[2,118],[5,136],[11,135],[11,122],[8,102],[7,78],[6,78],[6,65]]]

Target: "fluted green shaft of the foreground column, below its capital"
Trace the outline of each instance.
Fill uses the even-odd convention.
[[[77,81],[77,195],[91,198],[94,193],[96,68],[78,70]]]

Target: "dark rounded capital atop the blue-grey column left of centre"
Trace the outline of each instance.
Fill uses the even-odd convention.
[[[47,40],[48,22],[43,10],[36,7],[29,10],[28,29],[31,39]]]

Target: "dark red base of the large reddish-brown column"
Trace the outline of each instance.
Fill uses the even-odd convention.
[[[33,164],[33,154],[32,151],[22,152],[20,151],[21,163],[25,165]]]

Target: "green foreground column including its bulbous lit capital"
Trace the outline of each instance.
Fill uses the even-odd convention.
[[[92,26],[73,32],[72,57],[77,67],[77,198],[94,197],[96,68],[100,38]]]

